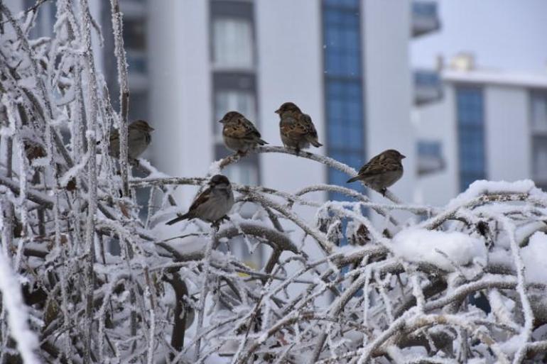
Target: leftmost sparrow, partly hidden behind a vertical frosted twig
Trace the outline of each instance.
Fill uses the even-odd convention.
[[[127,155],[129,160],[136,160],[146,150],[151,140],[150,133],[153,131],[154,128],[143,120],[136,120],[127,126]],[[108,153],[114,158],[119,158],[119,131],[117,129],[110,133]]]

